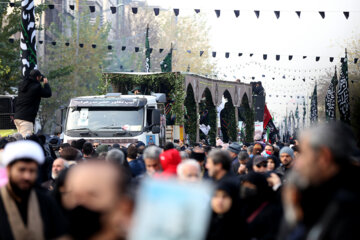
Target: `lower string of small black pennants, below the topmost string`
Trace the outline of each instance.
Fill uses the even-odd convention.
[[[15,42],[15,39],[14,38],[9,38],[9,42],[10,43],[14,43]],[[50,40],[38,40],[38,43],[41,45],[43,43],[49,43],[53,46],[58,46],[59,44],[64,44],[66,47],[69,47],[70,46],[70,42],[61,42],[61,41],[50,41]],[[98,44],[90,44],[92,48],[97,48],[98,47]],[[100,45],[100,46],[104,46],[104,45]],[[79,43],[79,47],[80,48],[84,48],[85,47],[85,44],[84,43]],[[113,50],[113,45],[107,45],[107,49],[109,51]],[[130,49],[129,47],[127,46],[121,46],[121,50],[122,51],[125,51],[126,49]],[[134,52],[144,52],[146,49],[145,48],[140,48],[140,47],[133,47],[134,49]],[[150,48],[150,53],[153,52],[153,48]],[[165,48],[159,48],[158,51],[159,53],[162,53],[164,50],[168,50],[168,49],[165,49]],[[173,50],[178,50],[178,49],[173,49]],[[193,53],[194,51],[192,50],[186,50],[186,53]],[[200,50],[199,51],[199,57],[202,57],[204,56],[204,53],[205,51],[203,50]],[[237,57],[243,57],[246,55],[246,53],[234,53],[234,52],[225,52],[225,58],[230,58],[230,54],[231,55],[235,55]],[[249,57],[253,57],[255,55],[255,53],[249,53],[248,54]],[[263,56],[263,60],[266,61],[268,60],[268,54],[260,54]],[[216,51],[211,51],[211,56],[213,58],[216,58],[216,57],[219,57],[218,55],[218,52]],[[341,58],[338,58],[338,57],[324,57],[324,56],[303,56],[303,55],[285,55],[285,57],[281,58],[281,56],[284,56],[284,55],[280,55],[280,54],[275,54],[275,60],[276,61],[280,61],[280,59],[287,59],[288,61],[292,61],[294,60],[295,57],[297,58],[300,58],[300,59],[310,59],[311,57],[316,61],[316,62],[319,62],[320,59],[328,59],[329,62],[334,62],[335,59],[339,59],[340,62],[344,62],[344,59],[343,57]],[[359,62],[359,58],[356,57],[356,58],[353,58],[353,61],[352,61],[354,64],[357,64]]]

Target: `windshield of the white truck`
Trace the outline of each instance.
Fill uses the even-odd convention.
[[[142,131],[144,108],[89,107],[70,108],[66,130]]]

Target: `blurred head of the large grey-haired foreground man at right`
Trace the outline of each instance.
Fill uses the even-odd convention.
[[[319,124],[300,137],[300,155],[294,169],[306,185],[320,185],[354,164],[356,140],[340,122]]]

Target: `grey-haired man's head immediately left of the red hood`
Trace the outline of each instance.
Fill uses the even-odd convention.
[[[147,147],[144,151],[144,162],[146,175],[153,176],[156,172],[161,172],[160,154],[162,149],[157,146]]]

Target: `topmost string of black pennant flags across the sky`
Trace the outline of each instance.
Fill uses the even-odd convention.
[[[15,7],[15,3],[16,3],[16,2],[0,2],[0,4],[9,4],[10,7]],[[48,3],[48,4],[43,4],[43,5],[47,5],[48,8],[51,9],[51,10],[54,9],[56,5],[62,6],[62,4],[56,4],[56,3]],[[89,7],[89,11],[90,11],[91,13],[96,12],[96,6],[95,6],[95,5],[80,4],[79,6]],[[71,10],[75,10],[75,5],[74,5],[74,4],[70,4],[70,5],[69,5],[69,8],[70,8]],[[116,14],[117,8],[118,8],[118,6],[110,6],[110,7],[109,7],[109,9],[110,9],[110,11],[111,11],[112,14]],[[148,8],[151,8],[151,7],[149,7],[149,6],[142,6],[141,8],[147,8],[147,9],[148,9]],[[158,15],[160,14],[160,8],[155,7],[155,8],[152,8],[152,9],[153,9],[153,11],[154,11],[154,15],[155,15],[155,16],[158,16]],[[137,13],[139,12],[138,10],[139,10],[139,7],[131,7],[131,11],[132,11],[133,14],[137,14]],[[166,9],[166,11],[168,11],[168,10],[171,10],[171,9]],[[178,15],[180,14],[180,9],[179,9],[179,8],[173,8],[172,10],[173,10],[175,16],[178,16]],[[201,9],[193,9],[193,10],[194,10],[194,12],[195,12],[196,14],[199,14],[200,12],[202,12]],[[223,12],[228,12],[228,10],[221,10],[221,9],[214,9],[213,11],[214,11],[215,16],[216,16],[217,18],[220,18],[220,16],[221,16],[221,11],[223,11]],[[241,14],[242,11],[248,11],[248,10],[239,10],[239,9],[238,9],[238,10],[231,10],[231,11],[233,12],[234,16],[235,16],[236,18],[238,18],[238,17],[240,17],[240,14]],[[259,19],[259,18],[260,18],[261,11],[268,12],[269,10],[251,10],[251,11],[253,11],[254,14],[255,14],[255,16],[256,16],[256,18]],[[274,12],[274,17],[275,17],[276,19],[280,19],[281,12],[290,12],[290,11],[289,11],[289,10],[281,10],[281,11],[280,11],[280,10],[272,10],[272,12]],[[294,12],[294,13],[298,16],[298,18],[300,19],[302,12],[310,12],[310,11],[306,10],[306,11],[291,11],[291,12]],[[340,12],[340,13],[342,13],[342,14],[344,15],[344,17],[345,17],[346,19],[349,19],[349,17],[350,17],[350,11],[311,11],[311,12],[317,12],[322,19],[325,19],[325,17],[326,17],[326,12]],[[359,11],[353,11],[353,10],[352,10],[351,12],[359,12]]]

